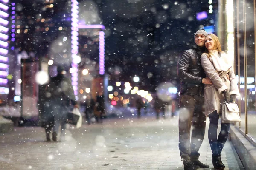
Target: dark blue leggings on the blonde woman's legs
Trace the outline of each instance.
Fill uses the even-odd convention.
[[[220,155],[230,133],[230,123],[221,123],[221,132],[217,139],[219,114],[217,111],[209,114],[210,126],[208,130],[209,143],[214,156]]]

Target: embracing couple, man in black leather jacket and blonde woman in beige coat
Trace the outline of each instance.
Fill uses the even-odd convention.
[[[203,29],[195,35],[195,48],[183,51],[177,64],[180,86],[179,149],[184,170],[209,168],[198,160],[199,148],[204,140],[206,116],[212,150],[212,164],[223,170],[221,151],[230,132],[230,123],[221,123],[217,136],[218,120],[224,101],[235,102],[239,95],[232,63],[221,51],[218,37]],[[192,135],[190,140],[190,130]]]

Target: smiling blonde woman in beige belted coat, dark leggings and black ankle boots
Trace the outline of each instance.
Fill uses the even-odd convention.
[[[230,132],[230,123],[221,123],[221,132],[217,138],[218,119],[224,100],[235,102],[239,91],[232,64],[229,63],[227,54],[221,51],[218,37],[208,34],[205,38],[205,47],[206,52],[201,56],[201,65],[213,85],[204,87],[204,113],[210,119],[208,138],[212,149],[212,164],[215,169],[223,170],[225,165],[221,161],[221,151]]]

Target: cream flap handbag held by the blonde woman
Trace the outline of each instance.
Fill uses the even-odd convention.
[[[241,121],[238,105],[236,103],[224,102],[222,104],[221,123],[235,123]]]

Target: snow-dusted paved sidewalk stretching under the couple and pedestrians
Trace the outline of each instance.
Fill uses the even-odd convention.
[[[69,128],[65,142],[45,142],[40,127],[16,127],[0,135],[0,169],[183,170],[177,122],[177,117],[107,119],[103,125]],[[200,161],[213,168],[207,135],[200,153]],[[221,158],[225,170],[244,169],[230,141]]]

